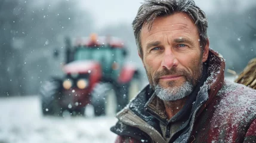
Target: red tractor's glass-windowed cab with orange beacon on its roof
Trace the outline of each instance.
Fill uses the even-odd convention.
[[[73,61],[97,61],[101,65],[102,80],[117,82],[127,55],[120,39],[92,35],[91,38],[77,39],[74,48]]]

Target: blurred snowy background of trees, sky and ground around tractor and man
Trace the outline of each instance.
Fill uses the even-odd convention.
[[[63,76],[64,38],[111,35],[123,39],[127,61],[143,73],[131,23],[141,0],[0,0],[0,142],[113,142],[113,116],[41,116],[39,88]],[[209,21],[210,47],[240,73],[256,57],[256,1],[195,0]],[[58,51],[58,58],[54,58]],[[142,87],[141,87],[142,88]],[[89,113],[90,114],[90,111]]]

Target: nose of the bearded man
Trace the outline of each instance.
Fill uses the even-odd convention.
[[[165,50],[162,58],[161,66],[165,69],[171,70],[172,67],[177,67],[178,60],[171,50]]]

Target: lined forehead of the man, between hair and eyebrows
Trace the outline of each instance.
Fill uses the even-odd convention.
[[[198,29],[192,18],[186,13],[174,13],[172,15],[157,17],[149,30],[148,24],[143,24],[141,29],[141,40],[154,37],[156,33],[186,33],[187,35],[198,35]]]

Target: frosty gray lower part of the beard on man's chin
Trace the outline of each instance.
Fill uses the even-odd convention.
[[[192,91],[193,85],[187,81],[180,87],[162,88],[159,84],[155,86],[156,95],[163,101],[180,100],[191,94]]]

